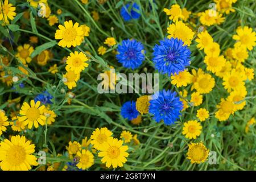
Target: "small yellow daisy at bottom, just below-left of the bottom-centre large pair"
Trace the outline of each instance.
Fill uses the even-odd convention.
[[[93,166],[94,164],[94,157],[92,152],[89,150],[82,150],[82,152],[77,152],[77,156],[79,156],[79,163],[76,166],[79,169],[88,169],[89,167]]]

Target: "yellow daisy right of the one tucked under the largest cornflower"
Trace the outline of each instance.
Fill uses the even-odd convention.
[[[212,91],[214,85],[214,78],[208,73],[199,75],[196,82],[194,83],[195,89],[199,93],[209,93]]]

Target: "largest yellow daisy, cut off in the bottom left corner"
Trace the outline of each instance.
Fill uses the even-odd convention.
[[[3,171],[28,171],[31,166],[38,166],[34,152],[35,145],[24,136],[4,139],[0,143],[0,167]]]

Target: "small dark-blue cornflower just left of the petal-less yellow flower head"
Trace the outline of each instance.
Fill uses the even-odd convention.
[[[123,118],[129,119],[129,121],[137,118],[139,112],[136,110],[136,103],[134,101],[125,102],[121,107],[121,115]]]

